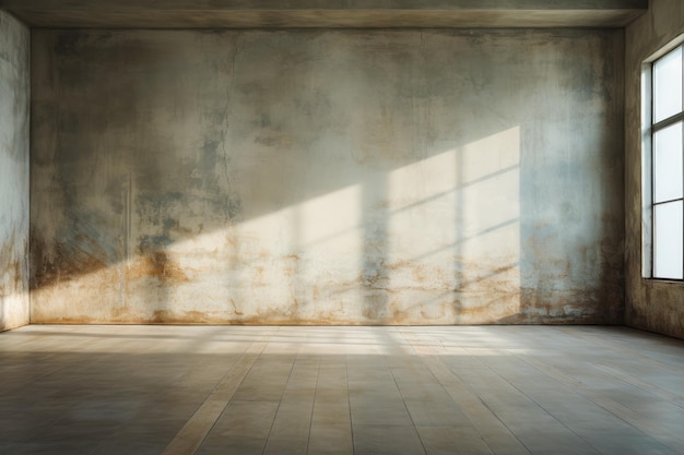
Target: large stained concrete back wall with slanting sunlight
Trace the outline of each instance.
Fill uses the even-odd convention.
[[[32,321],[620,323],[621,31],[35,31]]]

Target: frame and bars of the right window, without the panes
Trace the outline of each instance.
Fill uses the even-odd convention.
[[[682,51],[682,107],[676,113],[671,115],[658,122],[653,123],[656,112],[656,63],[670,55],[670,52],[681,49]],[[642,261],[641,276],[646,279],[684,283],[684,251],[682,252],[682,276],[680,278],[659,277],[654,274],[656,270],[656,207],[672,202],[681,202],[684,218],[684,191],[681,197],[669,199],[656,202],[656,165],[654,165],[654,137],[659,131],[663,131],[669,127],[682,123],[682,149],[684,176],[684,35],[677,37],[669,45],[661,48],[658,52],[649,57],[642,64],[641,71],[641,197],[642,197],[642,216],[641,216],[641,241],[642,241]],[[684,180],[684,178],[683,178]],[[683,182],[684,185],[684,182]],[[683,219],[684,226],[684,219]],[[684,250],[684,229],[683,250]]]

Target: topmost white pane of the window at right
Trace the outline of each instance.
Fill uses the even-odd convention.
[[[682,48],[653,63],[653,123],[682,111]]]

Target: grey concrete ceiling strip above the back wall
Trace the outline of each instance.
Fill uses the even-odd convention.
[[[0,0],[32,27],[624,27],[648,0]]]

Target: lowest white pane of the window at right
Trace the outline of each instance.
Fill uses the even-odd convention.
[[[682,206],[682,201],[656,205],[653,239],[653,276],[656,278],[683,278]]]

